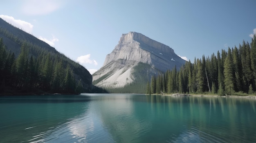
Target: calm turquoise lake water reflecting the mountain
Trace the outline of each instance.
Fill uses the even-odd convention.
[[[245,143],[256,100],[83,94],[0,97],[0,143]]]

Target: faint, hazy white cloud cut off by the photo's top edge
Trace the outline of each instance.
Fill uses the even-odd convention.
[[[62,5],[62,0],[25,0],[21,7],[27,15],[45,15],[56,11]]]

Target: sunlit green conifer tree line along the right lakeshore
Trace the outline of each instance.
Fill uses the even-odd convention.
[[[222,49],[217,55],[202,56],[159,73],[147,83],[146,93],[205,93],[225,95],[235,92],[254,94],[256,91],[256,37],[243,41],[239,47]]]

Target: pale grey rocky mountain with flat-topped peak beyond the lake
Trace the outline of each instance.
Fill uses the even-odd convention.
[[[122,34],[103,66],[92,75],[99,87],[120,88],[134,82],[146,83],[152,75],[185,64],[172,48],[142,35]]]

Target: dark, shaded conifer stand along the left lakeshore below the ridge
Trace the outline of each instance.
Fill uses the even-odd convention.
[[[0,92],[83,92],[81,79],[76,81],[71,69],[78,65],[68,62],[62,54],[54,54],[28,42],[23,42],[16,58],[13,52],[6,50],[0,38]]]

